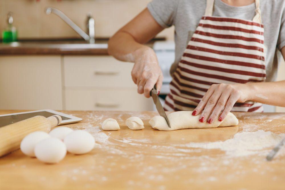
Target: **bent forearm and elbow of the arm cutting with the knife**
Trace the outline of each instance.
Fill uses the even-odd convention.
[[[135,62],[139,51],[152,51],[152,49],[136,42],[127,32],[117,32],[108,43],[108,53],[121,61]]]

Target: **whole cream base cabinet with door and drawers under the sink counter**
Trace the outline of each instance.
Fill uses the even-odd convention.
[[[111,56],[0,56],[0,109],[152,110],[132,67]]]

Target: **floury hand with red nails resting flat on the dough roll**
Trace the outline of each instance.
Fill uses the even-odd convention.
[[[202,112],[199,118],[200,122],[207,120],[208,123],[212,123],[218,117],[219,121],[223,121],[233,108],[233,105],[236,102],[249,100],[249,95],[250,89],[246,84],[213,84],[205,93],[192,115],[198,115]]]

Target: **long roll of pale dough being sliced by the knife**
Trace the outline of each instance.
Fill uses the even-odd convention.
[[[199,121],[200,114],[197,116],[192,115],[192,111],[177,111],[170,113],[168,115],[168,120],[170,122],[171,128],[168,127],[166,120],[162,116],[154,116],[149,124],[154,129],[162,130],[162,131],[173,131],[177,129],[188,129],[188,128],[215,128],[215,127],[226,127],[226,126],[236,126],[239,124],[239,120],[233,115],[229,113],[227,117],[220,122],[216,119],[211,124],[207,122],[201,123]]]

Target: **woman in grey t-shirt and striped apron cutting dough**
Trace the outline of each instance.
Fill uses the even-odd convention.
[[[154,51],[143,44],[175,26],[168,111],[193,110],[200,122],[222,121],[229,111],[285,107],[285,81],[274,82],[276,52],[285,57],[285,1],[153,0],[109,41],[109,53],[134,62],[138,93],[162,86]],[[276,51],[277,50],[277,51]]]

